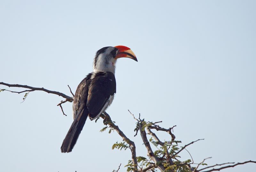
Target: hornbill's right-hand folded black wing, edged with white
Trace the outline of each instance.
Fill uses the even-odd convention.
[[[99,116],[106,109],[106,105],[109,105],[110,96],[113,96],[115,93],[116,78],[112,72],[98,72],[94,74],[86,103],[89,117],[94,119]]]

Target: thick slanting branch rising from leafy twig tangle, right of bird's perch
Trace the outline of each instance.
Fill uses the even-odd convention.
[[[163,164],[160,163],[160,159],[157,156],[155,156],[154,152],[152,151],[152,149],[149,145],[145,130],[142,130],[142,124],[141,124],[142,122],[143,122],[143,120],[140,120],[140,122],[139,122],[140,136],[143,140],[145,147],[148,150],[148,157],[150,157],[150,159],[155,162],[155,165],[157,166],[157,168],[159,168],[161,171],[164,171],[165,168],[164,168]]]

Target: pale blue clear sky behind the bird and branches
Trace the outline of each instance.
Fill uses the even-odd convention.
[[[124,45],[138,62],[118,59],[116,96],[107,112],[147,156],[136,121],[174,128],[195,162],[256,160],[256,2],[216,1],[0,1],[0,82],[75,92],[92,71],[97,50]],[[2,89],[7,87],[0,86]],[[23,90],[14,89],[10,90]],[[42,91],[0,93],[0,171],[119,171],[129,150],[87,120],[73,151],[60,152],[72,123],[72,103]],[[158,133],[162,140],[170,140]],[[181,160],[189,159],[184,151]],[[255,171],[255,164],[222,170]]]

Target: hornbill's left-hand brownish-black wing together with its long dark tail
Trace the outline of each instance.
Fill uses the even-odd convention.
[[[73,123],[61,145],[61,152],[71,152],[76,144],[79,134],[81,133],[88,116],[86,107],[88,90],[91,84],[92,74],[87,75],[77,86],[73,101]]]

